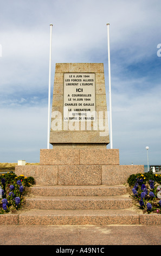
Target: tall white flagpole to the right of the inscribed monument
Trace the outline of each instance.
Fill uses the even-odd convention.
[[[111,104],[111,66],[110,66],[110,36],[109,36],[109,26],[107,23],[107,41],[108,41],[108,80],[109,80],[109,101],[110,101],[110,145],[113,148],[112,142],[112,104]]]

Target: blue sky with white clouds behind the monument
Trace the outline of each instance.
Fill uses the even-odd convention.
[[[0,162],[40,161],[47,148],[49,34],[55,63],[104,63],[110,23],[113,148],[120,164],[161,164],[159,0],[0,1]],[[110,148],[110,144],[107,146]]]

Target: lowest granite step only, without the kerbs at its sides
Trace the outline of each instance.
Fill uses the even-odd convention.
[[[27,210],[18,216],[19,225],[138,225],[132,210]]]

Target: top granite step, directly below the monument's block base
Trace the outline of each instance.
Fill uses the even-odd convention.
[[[35,196],[121,196],[126,194],[124,185],[117,186],[38,186],[27,188]]]

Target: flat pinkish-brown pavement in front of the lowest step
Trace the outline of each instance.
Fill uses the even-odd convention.
[[[0,245],[154,246],[160,232],[161,225],[0,225]]]

